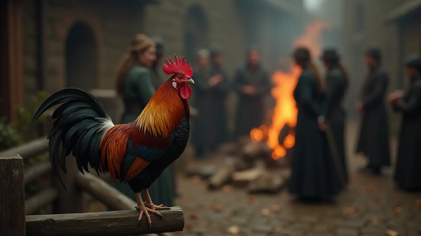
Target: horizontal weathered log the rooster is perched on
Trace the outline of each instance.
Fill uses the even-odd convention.
[[[182,231],[184,215],[180,207],[161,210],[165,217],[151,214],[152,228],[145,217],[136,225],[139,211],[93,212],[64,215],[29,215],[27,236],[128,236]]]

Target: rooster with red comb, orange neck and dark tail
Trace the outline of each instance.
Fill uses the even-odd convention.
[[[66,156],[72,153],[82,174],[89,172],[89,164],[97,174],[109,173],[114,180],[127,183],[140,211],[137,223],[146,215],[149,227],[149,212],[162,217],[157,210],[169,208],[153,204],[148,188],[181,156],[189,139],[187,99],[192,94],[193,70],[184,57],[174,57],[175,62],[165,59],[168,65],[163,64],[171,78],[157,89],[135,121],[114,125],[99,100],[78,88],[65,88],[48,97],[32,119],[34,123],[46,110],[62,104],[52,115],[56,120],[47,137],[54,172],[59,178],[59,168],[66,173]]]

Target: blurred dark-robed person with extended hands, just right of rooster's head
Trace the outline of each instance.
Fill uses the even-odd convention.
[[[221,77],[211,77],[209,68],[209,51],[198,51],[194,66],[193,80],[195,80],[193,104],[199,112],[192,128],[193,144],[198,158],[205,158],[215,146],[214,121],[212,119],[212,89],[222,82]]]

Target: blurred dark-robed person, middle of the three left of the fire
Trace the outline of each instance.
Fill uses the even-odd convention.
[[[229,91],[229,81],[222,67],[223,59],[223,55],[218,48],[213,48],[210,51],[210,80],[219,81],[210,89],[212,96],[211,119],[216,136],[214,145],[228,141],[226,98]],[[215,147],[211,147],[211,149],[213,148]]]

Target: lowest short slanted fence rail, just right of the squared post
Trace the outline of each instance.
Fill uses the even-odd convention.
[[[46,205],[52,203],[59,196],[54,188],[47,188],[25,201],[25,215],[32,215]]]

